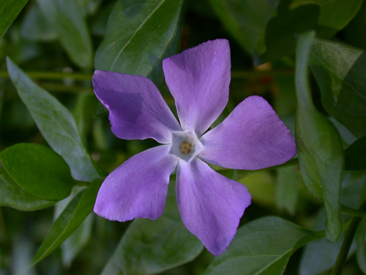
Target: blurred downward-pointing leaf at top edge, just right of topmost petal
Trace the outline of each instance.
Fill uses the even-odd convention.
[[[211,0],[214,11],[226,29],[249,54],[254,54],[258,39],[277,5],[268,0]]]

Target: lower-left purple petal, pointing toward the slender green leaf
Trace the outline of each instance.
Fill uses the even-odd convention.
[[[94,212],[113,221],[160,217],[177,163],[168,152],[169,146],[161,145],[125,161],[104,180]]]

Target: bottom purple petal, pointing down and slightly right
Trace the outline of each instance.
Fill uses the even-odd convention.
[[[234,238],[251,196],[244,185],[196,158],[191,163],[178,162],[176,199],[188,230],[218,256]]]

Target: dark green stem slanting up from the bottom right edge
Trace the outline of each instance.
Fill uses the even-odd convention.
[[[365,207],[366,207],[366,202],[364,202],[361,205],[359,210],[363,211],[363,209]],[[358,227],[359,223],[361,222],[361,220],[362,220],[361,217],[353,217],[351,219],[349,227],[348,227],[347,231],[345,232],[344,240],[342,242],[342,246],[340,247],[338,257],[333,266],[331,275],[340,275],[340,273],[342,272],[344,263],[347,259],[349,248],[351,247],[351,244],[352,244],[354,234],[356,233],[357,227]]]

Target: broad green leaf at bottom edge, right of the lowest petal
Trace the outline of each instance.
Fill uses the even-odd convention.
[[[241,226],[228,249],[204,275],[282,275],[290,256],[322,237],[279,217],[265,217]]]

